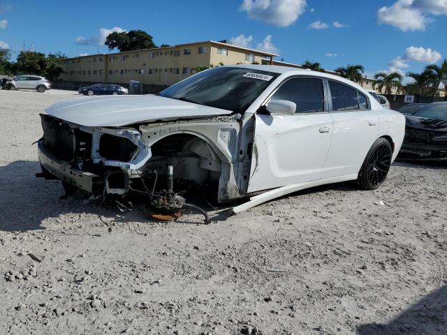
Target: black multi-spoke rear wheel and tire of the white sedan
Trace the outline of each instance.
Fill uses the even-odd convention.
[[[381,186],[390,170],[393,149],[391,144],[380,137],[372,144],[358,172],[357,184],[365,190],[374,190]]]

